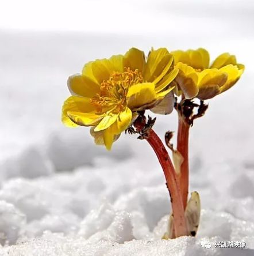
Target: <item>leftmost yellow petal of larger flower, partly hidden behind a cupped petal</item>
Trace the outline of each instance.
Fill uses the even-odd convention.
[[[61,120],[64,125],[68,127],[78,126],[76,123],[72,122],[69,116],[67,115],[68,111],[74,112],[95,112],[95,107],[91,104],[91,100],[86,97],[71,96],[64,101],[62,107],[62,116]]]

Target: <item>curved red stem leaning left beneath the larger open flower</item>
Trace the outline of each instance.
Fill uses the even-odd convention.
[[[170,156],[155,131],[152,129],[148,130],[148,135],[145,139],[155,151],[167,181],[166,184],[170,193],[172,212],[174,215],[175,235],[176,237],[188,235],[179,181]]]

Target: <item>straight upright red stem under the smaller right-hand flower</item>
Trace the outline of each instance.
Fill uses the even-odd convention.
[[[188,134],[190,125],[188,125],[184,118],[179,114],[178,122],[178,136],[177,136],[177,150],[183,156],[183,163],[180,167],[179,183],[182,193],[183,207],[186,208],[188,199]]]

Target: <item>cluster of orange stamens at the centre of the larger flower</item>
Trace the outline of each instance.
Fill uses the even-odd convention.
[[[125,71],[114,72],[109,80],[103,80],[101,91],[91,99],[98,112],[120,112],[126,107],[126,95],[130,86],[143,82],[141,72],[125,67]]]

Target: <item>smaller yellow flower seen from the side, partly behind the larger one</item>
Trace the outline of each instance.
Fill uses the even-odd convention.
[[[211,66],[209,52],[203,48],[171,53],[179,69],[175,80],[179,91],[175,92],[183,93],[186,99],[211,99],[232,87],[244,71],[244,65],[238,64],[236,57],[228,53],[217,57]]]

